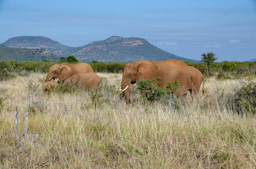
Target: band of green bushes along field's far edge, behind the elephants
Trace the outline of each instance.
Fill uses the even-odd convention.
[[[64,58],[64,57],[63,57]],[[64,60],[63,60],[64,61]],[[49,68],[57,62],[50,61],[0,61],[0,81],[14,77],[14,75],[24,75],[27,72],[42,72],[47,73]],[[107,73],[122,73],[125,63],[104,63],[92,61],[89,63],[94,72],[107,72]],[[247,75],[256,75],[256,62],[229,62],[223,61],[222,63],[211,63],[210,69],[205,63],[190,63],[186,64],[197,68],[203,75],[212,76],[218,75],[219,79],[236,78]],[[25,71],[25,72],[24,72]],[[24,73],[23,73],[24,72]],[[16,73],[16,74],[15,74]]]

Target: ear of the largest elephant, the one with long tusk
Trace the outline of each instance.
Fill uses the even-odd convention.
[[[153,77],[157,77],[158,69],[157,66],[150,61],[145,61],[138,65],[137,72],[138,74],[136,83],[140,81],[140,79],[150,79]]]

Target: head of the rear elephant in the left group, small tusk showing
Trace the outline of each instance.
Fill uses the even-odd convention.
[[[49,69],[48,74],[46,75],[46,81],[51,79],[59,78],[58,81],[63,81],[64,79],[72,75],[72,69],[68,65],[55,64],[52,65]]]

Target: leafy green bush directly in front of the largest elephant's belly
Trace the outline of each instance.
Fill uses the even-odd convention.
[[[168,82],[165,88],[160,88],[160,77],[151,79],[140,79],[137,90],[144,95],[147,101],[156,101],[163,98],[173,97],[176,93],[173,90],[179,89],[179,82]]]

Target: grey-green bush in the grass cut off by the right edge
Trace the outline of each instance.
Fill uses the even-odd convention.
[[[243,84],[241,88],[234,92],[235,106],[238,113],[246,112],[256,113],[256,83],[249,82]]]

